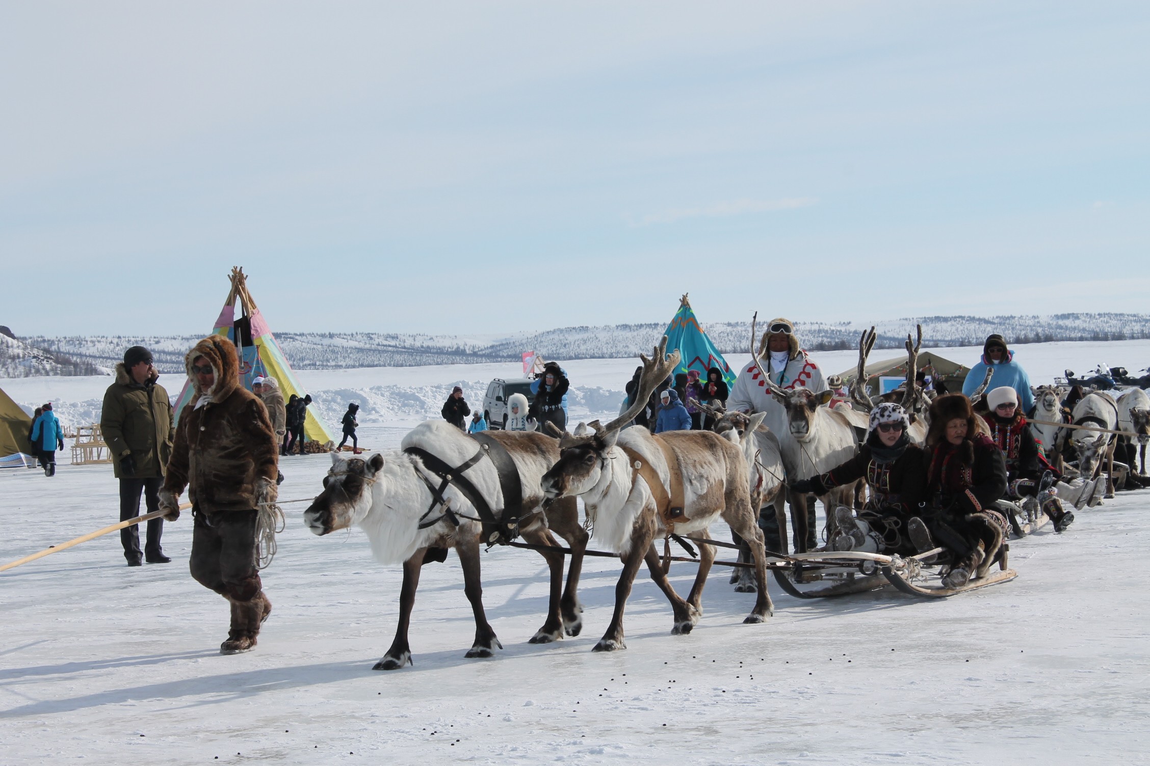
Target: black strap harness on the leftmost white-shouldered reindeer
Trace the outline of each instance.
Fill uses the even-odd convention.
[[[457,527],[459,526],[461,514],[452,511],[443,496],[444,490],[451,485],[461,492],[478,512],[480,518],[474,520],[483,524],[484,542],[489,546],[506,546],[519,536],[519,520],[523,514],[523,486],[519,478],[519,469],[515,467],[515,462],[507,449],[489,434],[480,432],[470,435],[471,439],[480,443],[481,449],[454,467],[425,449],[408,447],[404,450],[404,452],[414,455],[423,461],[423,466],[440,479],[439,486],[436,487],[422,472],[416,471],[419,477],[423,479],[423,483],[431,492],[431,505],[420,517],[420,529],[435,526],[443,519],[447,519]],[[499,487],[503,489],[504,508],[498,518],[494,511],[491,510],[491,505],[488,504],[483,493],[471,483],[470,479],[463,475],[468,469],[478,464],[484,457],[491,461],[491,464],[494,466],[496,473],[499,477]],[[428,517],[438,508],[443,509],[443,513],[429,519]],[[471,517],[463,516],[462,518],[469,519]]]

